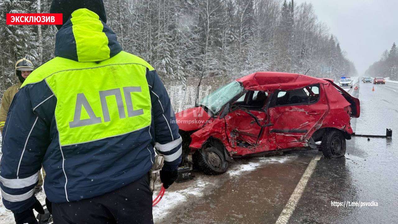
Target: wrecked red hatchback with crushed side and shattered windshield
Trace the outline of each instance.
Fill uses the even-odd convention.
[[[350,119],[359,113],[359,100],[332,79],[253,73],[176,114],[182,166],[193,160],[205,173],[221,174],[232,158],[315,149],[317,141],[325,157],[341,157],[353,133]]]

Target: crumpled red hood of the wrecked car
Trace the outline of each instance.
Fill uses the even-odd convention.
[[[176,122],[180,130],[199,130],[213,120],[202,107],[195,107],[176,113]]]

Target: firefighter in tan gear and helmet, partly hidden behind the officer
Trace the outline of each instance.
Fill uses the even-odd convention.
[[[20,90],[20,87],[25,81],[25,79],[30,75],[30,73],[34,70],[33,63],[28,59],[20,59],[15,64],[15,75],[18,77],[19,82],[4,92],[1,106],[0,106],[0,133],[3,133],[4,124],[6,123],[8,108],[10,108],[10,104],[15,94]],[[43,175],[45,172],[43,170]],[[39,193],[43,188],[43,177],[39,175],[39,183],[35,187],[35,194]]]

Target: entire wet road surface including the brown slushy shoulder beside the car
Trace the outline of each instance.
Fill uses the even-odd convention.
[[[374,92],[372,86],[360,83],[359,90],[350,90],[361,100],[353,129],[385,135],[391,128],[393,138],[353,137],[345,157],[321,157],[287,223],[398,223],[398,84],[374,85]],[[194,172],[195,180],[170,187],[163,201],[168,209],[154,208],[155,223],[273,224],[316,155],[322,153],[240,159],[219,176]],[[337,207],[331,201],[377,206]]]

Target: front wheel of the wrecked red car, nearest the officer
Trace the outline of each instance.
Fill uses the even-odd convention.
[[[228,169],[228,161],[225,159],[224,152],[210,143],[195,152],[194,162],[203,173],[208,175],[219,175]]]

